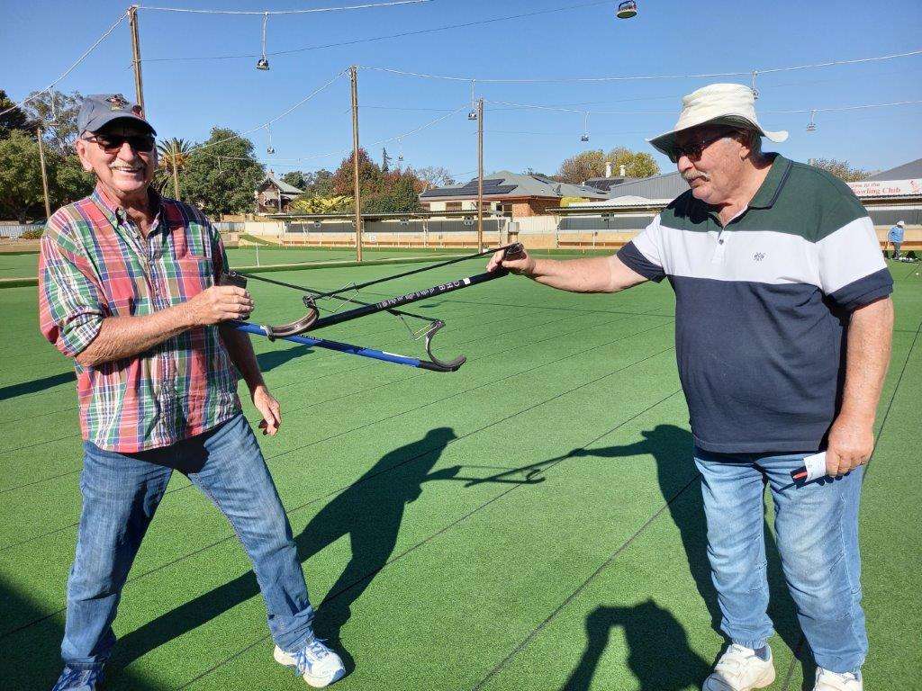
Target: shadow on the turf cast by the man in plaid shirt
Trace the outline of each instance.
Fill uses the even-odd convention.
[[[298,560],[303,563],[340,537],[349,536],[349,564],[317,608],[314,629],[330,639],[347,670],[354,668],[348,651],[338,645],[339,631],[349,620],[350,607],[387,564],[408,503],[419,498],[422,484],[449,479],[457,467],[431,473],[444,448],[457,439],[451,427],[436,427],[417,441],[384,454],[366,473],[338,494],[295,537]],[[259,594],[253,571],[158,616],[119,641],[114,666],[123,668],[172,638],[206,624]]]

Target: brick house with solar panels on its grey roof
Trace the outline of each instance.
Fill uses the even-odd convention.
[[[609,195],[594,187],[509,170],[499,170],[483,179],[484,211],[513,217],[541,216],[549,209],[559,208],[563,197],[596,201],[608,199]],[[420,194],[420,204],[432,212],[477,211],[477,178],[460,185],[426,190]]]

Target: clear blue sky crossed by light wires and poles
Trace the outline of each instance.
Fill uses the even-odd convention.
[[[269,19],[269,53],[326,43],[429,29],[561,6],[579,0],[433,0],[426,5],[366,9]],[[277,10],[357,4],[357,0],[153,0],[185,8]],[[922,49],[922,2],[863,0],[739,2],[639,0],[631,20],[614,17],[617,2],[496,21],[464,29],[351,46],[270,55],[271,70],[255,58],[174,60],[259,53],[260,16],[206,16],[142,10],[140,17],[148,113],[162,136],[194,141],[213,125],[244,131],[301,100],[349,64],[393,67],[439,75],[487,78],[688,75],[750,71],[904,53]],[[124,12],[126,2],[0,0],[0,88],[15,100],[43,88]],[[132,98],[127,23],[59,86],[83,93],[121,91]],[[922,104],[888,109],[819,113],[805,131],[806,113],[768,111],[922,100],[922,55],[881,63],[833,66],[760,76],[762,124],[786,129],[774,148],[792,158],[840,158],[886,169],[922,157]],[[669,79],[601,84],[478,84],[487,100],[562,106],[595,114],[590,142],[580,142],[584,117],[487,104],[486,170],[533,168],[552,173],[563,158],[587,147],[652,149],[644,137],[675,122],[681,95],[710,81]],[[470,86],[360,72],[361,140],[369,144],[408,132],[465,106]],[[424,109],[445,109],[424,110]],[[477,168],[476,123],[467,110],[403,139],[405,162],[440,165],[467,179]],[[272,126],[277,153],[266,155],[266,134],[251,135],[259,157],[279,172],[334,169],[351,146],[349,80],[341,78],[317,98]],[[369,147],[380,160],[381,146]],[[396,143],[387,145],[395,158]],[[337,152],[335,156],[317,157]],[[657,156],[662,170],[668,160]],[[301,162],[294,159],[302,158]]]

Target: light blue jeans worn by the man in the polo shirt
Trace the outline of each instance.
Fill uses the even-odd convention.
[[[868,652],[857,529],[864,466],[834,480],[795,484],[790,472],[808,454],[695,449],[694,455],[702,474],[707,553],[727,637],[759,649],[773,633],[766,614],[762,497],[767,483],[781,566],[813,657],[823,669],[859,673]]]

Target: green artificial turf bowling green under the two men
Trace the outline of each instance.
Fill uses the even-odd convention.
[[[334,288],[395,270],[278,277]],[[892,264],[897,333],[862,508],[869,688],[909,688],[922,673],[911,635],[922,627],[915,271]],[[296,295],[252,288],[255,322],[299,310]],[[0,336],[0,664],[5,688],[43,688],[58,669],[79,515],[76,396],[69,363],[37,334],[34,288],[0,290],[0,305],[11,326]],[[467,354],[458,373],[254,341],[283,410],[280,435],[262,438],[266,462],[321,605],[318,629],[350,654],[337,686],[696,688],[721,638],[671,290],[575,296],[505,278],[414,308],[447,322],[437,352]],[[324,332],[419,352],[406,334],[382,315]],[[799,630],[776,560],[773,583],[773,687],[795,689]],[[265,608],[233,533],[178,474],[115,627],[110,689],[304,687],[271,659]]]

